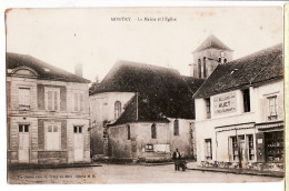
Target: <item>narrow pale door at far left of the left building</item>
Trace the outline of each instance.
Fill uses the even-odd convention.
[[[29,124],[19,124],[19,162],[29,162]]]

